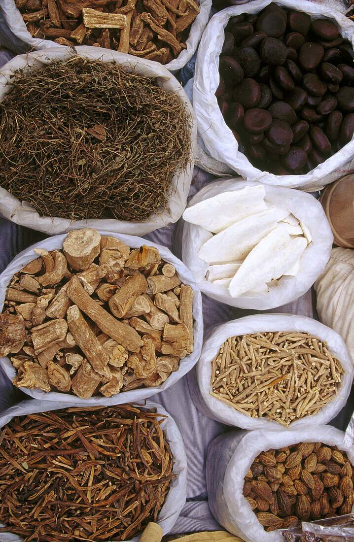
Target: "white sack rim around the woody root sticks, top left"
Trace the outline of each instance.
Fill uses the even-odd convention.
[[[199,8],[201,11],[192,23],[188,40],[185,42],[186,49],[183,49],[176,59],[165,64],[165,68],[170,72],[177,72],[177,70],[183,68],[197,50],[203,30],[209,20],[211,0],[199,0]],[[5,23],[4,28],[0,29],[0,37],[3,37],[2,42],[14,53],[25,53],[29,49],[41,50],[49,47],[64,47],[55,43],[54,40],[40,40],[32,37],[27,30],[20,11],[16,8],[14,0],[0,0],[0,10]],[[134,56],[134,59],[137,61],[138,57]]]

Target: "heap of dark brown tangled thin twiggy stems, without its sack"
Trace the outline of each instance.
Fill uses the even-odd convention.
[[[1,186],[41,216],[137,221],[186,169],[190,118],[155,80],[73,56],[15,73],[0,140]]]

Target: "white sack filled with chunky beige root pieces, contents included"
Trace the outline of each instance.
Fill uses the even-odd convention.
[[[201,293],[169,249],[145,243],[87,228],[19,254],[0,275],[5,375],[75,405],[139,401],[185,375],[202,347]]]

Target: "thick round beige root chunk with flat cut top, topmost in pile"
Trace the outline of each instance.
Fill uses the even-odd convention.
[[[103,14],[102,14],[103,15]],[[70,267],[84,271],[99,255],[101,236],[93,228],[70,231],[63,241],[63,252]]]

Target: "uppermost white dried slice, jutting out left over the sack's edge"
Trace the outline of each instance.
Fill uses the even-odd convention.
[[[185,209],[183,219],[213,233],[219,233],[243,218],[265,211],[265,194],[265,188],[261,184],[223,192]]]

